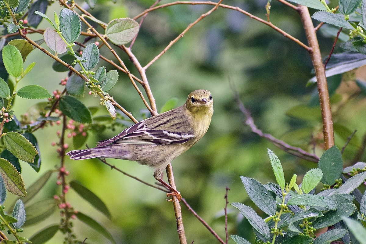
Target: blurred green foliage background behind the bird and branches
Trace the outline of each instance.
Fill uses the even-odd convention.
[[[134,17],[154,1],[117,1],[116,4],[111,1],[100,1],[100,3],[94,10],[88,11],[102,21],[109,22],[113,18]],[[266,3],[264,0],[224,1],[224,4],[239,6],[264,19],[266,19]],[[210,8],[212,6],[175,5],[151,12],[142,24],[132,51],[142,65],[147,64],[190,23]],[[59,13],[60,9],[59,5],[53,4],[46,14],[52,16],[53,11]],[[273,1],[270,20],[306,44],[305,34],[295,11]],[[46,27],[49,27],[48,23],[43,21],[38,28]],[[326,26],[323,29],[324,31],[318,33],[318,38],[322,55],[326,57],[334,40],[331,35],[335,35],[337,30],[331,30]],[[32,34],[31,37],[33,40],[42,38],[38,34]],[[117,52],[128,69],[137,75],[127,56],[119,49]],[[116,62],[105,47],[101,49],[101,54]],[[25,65],[33,61],[37,62],[36,67],[19,85],[42,85],[51,93],[55,89],[63,89],[58,84],[67,76],[67,72],[53,71],[50,65],[53,60],[37,49],[27,57]],[[113,69],[102,61],[100,65],[105,65],[107,70]],[[176,184],[183,198],[186,198],[193,209],[223,239],[225,187],[231,188],[228,195],[230,203],[243,202],[255,208],[247,198],[239,176],[252,177],[264,184],[274,181],[267,148],[273,150],[281,159],[286,180],[290,180],[293,173],[296,173],[299,179],[308,169],[316,167],[316,164],[295,158],[253,134],[244,123],[244,115],[235,102],[230,82],[235,85],[241,100],[251,111],[255,124],[260,129],[308,151],[313,150],[313,141],[317,144],[315,152],[320,156],[322,125],[316,97],[314,98],[316,87],[306,87],[308,80],[313,77],[311,70],[311,60],[305,49],[248,16],[222,8],[191,28],[148,68],[147,78],[158,110],[174,97],[178,98],[177,106],[182,105],[187,95],[196,89],[207,89],[212,93],[214,115],[207,134],[192,149],[176,158],[172,165]],[[364,75],[360,72],[359,76]],[[341,77],[333,79],[339,85],[337,80],[340,81]],[[348,94],[358,91],[354,86],[354,79],[354,72],[342,78],[341,85],[336,86],[337,97],[334,98],[333,104],[333,112],[336,111],[335,122],[340,126],[339,133],[336,133],[336,145],[343,147],[347,136],[358,130],[344,152],[345,162],[351,162],[366,131],[365,97],[358,95],[351,100],[347,99]],[[111,95],[135,117],[142,119],[141,110],[145,108],[127,75],[119,74],[119,82],[111,91]],[[81,100],[87,106],[99,106],[100,102],[87,92]],[[31,102],[35,104],[39,101]],[[29,106],[24,106],[25,103]],[[302,109],[295,109],[293,116],[288,116],[287,111],[297,105],[303,105],[315,112],[305,113]],[[20,116],[29,112],[31,106],[29,100],[17,97],[14,106],[15,115]],[[102,112],[98,115],[107,114],[104,109],[100,110]],[[60,126],[55,125],[35,133],[40,142],[42,166],[40,172],[36,173],[29,165],[22,164],[22,176],[26,187],[48,169],[54,169],[59,165],[60,159],[51,143],[57,142],[56,131],[60,129]],[[106,129],[99,134],[90,133],[87,144],[94,146],[98,140],[108,139],[122,129],[123,127],[117,127],[114,131]],[[73,149],[72,140],[67,139],[67,143],[70,144],[70,150]],[[118,159],[109,159],[108,162],[140,179],[155,183],[153,171],[146,166]],[[70,171],[67,181],[81,181],[104,200],[111,211],[112,220],[93,209],[72,190],[67,194],[68,202],[76,210],[102,223],[112,233],[117,243],[179,243],[172,203],[165,200],[163,192],[111,170],[97,159],[85,161],[67,159],[66,168]],[[56,180],[54,174],[34,201],[52,198],[58,194],[60,187],[56,185]],[[7,201],[12,202],[11,198],[9,196]],[[261,213],[260,210],[255,210]],[[188,243],[193,240],[199,244],[218,243],[185,206],[182,206],[182,211]],[[228,207],[228,212],[229,234],[238,234],[253,241],[251,228],[240,213],[231,206]],[[23,234],[30,237],[45,226],[57,223],[59,223],[58,211],[40,224],[25,228]],[[107,239],[78,220],[74,221],[74,230],[79,240],[87,237],[87,243],[108,243]],[[63,236],[58,233],[49,243],[62,241]]]

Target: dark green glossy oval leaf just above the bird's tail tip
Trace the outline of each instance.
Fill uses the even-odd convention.
[[[74,97],[64,96],[60,98],[59,102],[60,110],[75,121],[80,123],[92,123],[91,115],[89,110],[85,107],[82,102]]]

